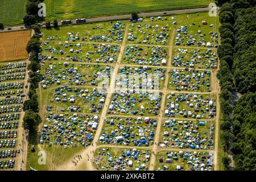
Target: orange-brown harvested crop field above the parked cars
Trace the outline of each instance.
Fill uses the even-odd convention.
[[[30,30],[0,33],[0,61],[27,59],[30,36]]]

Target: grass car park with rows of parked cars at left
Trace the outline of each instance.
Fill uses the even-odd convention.
[[[26,61],[0,63],[0,170],[14,169],[16,157],[20,155],[18,137],[26,97],[26,67]]]

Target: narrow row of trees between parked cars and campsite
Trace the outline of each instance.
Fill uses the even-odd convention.
[[[40,27],[35,24],[32,26],[35,34],[28,41],[27,52],[30,53],[30,63],[28,64],[28,77],[30,82],[30,88],[28,90],[29,100],[23,104],[23,110],[26,114],[23,118],[23,127],[29,131],[30,143],[36,143],[36,133],[38,131],[38,125],[42,121],[38,114],[38,95],[36,94],[36,88],[38,88],[38,82],[40,81],[40,64],[38,61],[38,53],[40,51]]]

